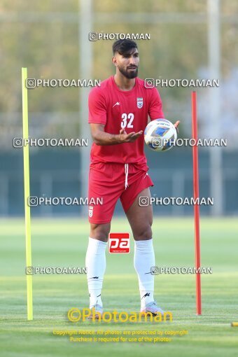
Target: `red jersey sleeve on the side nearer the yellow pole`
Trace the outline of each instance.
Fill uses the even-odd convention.
[[[106,124],[106,100],[96,87],[89,94],[88,110],[88,123]]]

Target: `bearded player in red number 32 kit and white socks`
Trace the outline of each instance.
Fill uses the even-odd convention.
[[[156,315],[163,311],[154,297],[155,265],[151,225],[151,205],[140,207],[139,197],[151,197],[153,181],[148,175],[144,154],[144,130],[151,120],[164,118],[160,94],[146,88],[137,78],[137,43],[113,43],[115,76],[94,87],[89,95],[89,123],[94,143],[90,154],[88,198],[102,197],[102,205],[89,207],[90,237],[85,265],[90,293],[90,309],[102,314],[102,283],[106,269],[106,244],[113,211],[120,198],[134,237],[134,267],[139,279],[141,311]],[[179,121],[175,123],[178,127]]]

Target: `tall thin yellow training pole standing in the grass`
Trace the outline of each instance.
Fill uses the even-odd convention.
[[[25,191],[25,235],[26,235],[26,262],[27,267],[31,267],[31,210],[28,205],[29,197],[29,144],[25,144],[28,139],[28,102],[27,68],[22,68],[22,126],[23,126],[23,161],[24,161],[24,191]],[[26,269],[27,272],[27,269]],[[32,307],[32,275],[27,275],[27,319],[33,320]]]

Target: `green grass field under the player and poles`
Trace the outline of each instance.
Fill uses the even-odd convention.
[[[130,232],[127,221],[113,220],[111,232]],[[153,223],[156,265],[194,265],[192,218],[156,218]],[[237,218],[202,218],[202,316],[195,312],[195,276],[155,276],[155,297],[172,311],[172,323],[70,323],[71,307],[87,307],[84,274],[33,276],[34,321],[27,321],[25,227],[23,220],[1,220],[1,356],[237,356],[238,223]],[[88,225],[80,220],[33,220],[32,265],[84,267]],[[133,240],[133,239],[132,239]],[[107,253],[104,310],[137,311],[139,292],[130,254]],[[53,330],[188,330],[171,342],[70,342]]]

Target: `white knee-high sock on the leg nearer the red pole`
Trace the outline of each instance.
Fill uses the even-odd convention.
[[[155,266],[153,240],[134,241],[134,268],[139,279],[141,309],[144,309],[149,302],[154,301],[155,277],[151,274],[153,266]]]

